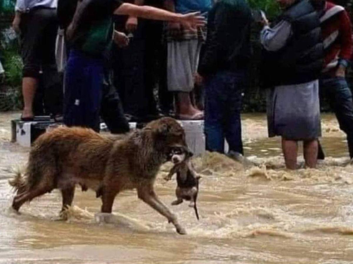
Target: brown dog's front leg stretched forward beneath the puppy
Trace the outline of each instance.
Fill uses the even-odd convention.
[[[150,186],[143,186],[137,189],[139,199],[143,200],[149,206],[154,208],[161,215],[164,215],[169,222],[172,222],[179,234],[186,234],[186,231],[178,223],[177,216],[175,216],[170,210],[158,199],[155,191]]]

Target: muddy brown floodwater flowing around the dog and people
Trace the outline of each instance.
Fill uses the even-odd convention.
[[[199,221],[187,203],[170,205],[176,182],[163,180],[170,164],[163,165],[156,191],[186,228],[183,236],[135,191],[116,197],[112,224],[95,221],[101,201],[79,188],[67,221],[59,219],[59,191],[13,213],[9,171],[29,151],[9,142],[18,116],[0,113],[0,263],[353,263],[353,165],[333,115],[322,117],[327,158],[298,171],[284,168],[265,115],[243,115],[246,156],[256,165],[211,153],[195,158],[203,177]]]

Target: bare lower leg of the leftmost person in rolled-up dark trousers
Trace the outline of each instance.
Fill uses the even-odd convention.
[[[22,94],[24,108],[22,112],[23,118],[33,117],[33,99],[38,86],[38,80],[32,77],[24,77],[22,80]]]

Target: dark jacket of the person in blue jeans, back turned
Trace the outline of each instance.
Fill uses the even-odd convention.
[[[198,72],[246,68],[250,49],[251,11],[245,0],[220,0],[209,12],[207,40]]]

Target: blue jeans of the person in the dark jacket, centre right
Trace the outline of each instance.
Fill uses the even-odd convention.
[[[241,88],[245,71],[219,71],[205,82],[206,149],[224,153],[224,140],[229,151],[243,154],[241,141]]]

